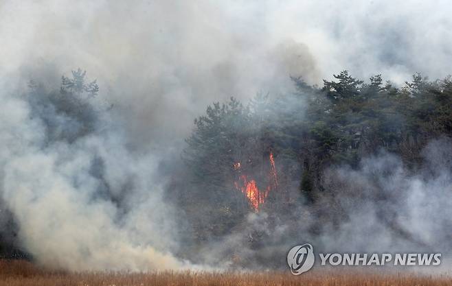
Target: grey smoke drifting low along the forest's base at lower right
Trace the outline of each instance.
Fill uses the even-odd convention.
[[[283,254],[308,242],[317,253],[441,253],[440,267],[416,271],[450,274],[451,139],[431,141],[422,156],[425,165],[418,171],[384,151],[363,158],[357,169],[332,166],[324,172],[325,191],[315,204],[286,206],[286,214],[276,217],[265,210],[251,213],[238,231],[206,245],[203,259],[278,268],[285,265]]]

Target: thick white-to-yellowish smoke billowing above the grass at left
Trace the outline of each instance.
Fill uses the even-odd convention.
[[[0,99],[1,196],[38,263],[69,270],[183,266],[169,252],[175,232],[153,178],[155,156],[128,152],[108,118],[100,132],[69,143],[64,132],[80,121],[56,112],[47,95]]]

